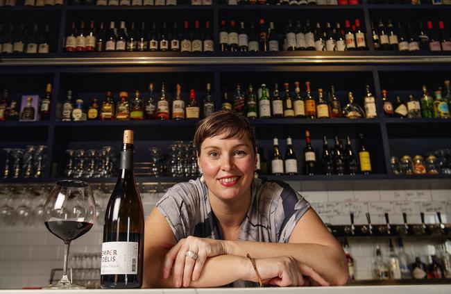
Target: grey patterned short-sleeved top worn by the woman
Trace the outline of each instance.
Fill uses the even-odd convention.
[[[241,223],[238,240],[288,243],[298,220],[310,204],[283,181],[254,179],[252,199],[246,218]],[[158,201],[157,208],[169,222],[176,240],[187,236],[223,240],[205,183],[199,179],[178,183]],[[237,286],[255,286],[248,281],[235,281]]]

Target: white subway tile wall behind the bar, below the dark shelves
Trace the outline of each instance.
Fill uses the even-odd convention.
[[[402,222],[403,212],[407,213],[409,222],[418,223],[420,211],[425,212],[427,223],[438,222],[436,211],[441,211],[443,222],[451,221],[451,190],[300,191],[300,194],[309,200],[323,222],[330,224],[349,224],[350,212],[355,213],[356,224],[366,223],[367,212],[371,213],[374,224],[384,223],[386,212],[392,223]],[[161,194],[142,194],[146,215],[160,197]],[[106,206],[107,201],[108,197],[100,198],[100,206]],[[71,243],[71,254],[101,251],[102,222],[97,220],[89,233]],[[382,254],[387,254],[388,238],[350,239],[349,242],[356,278],[371,279],[376,242]],[[406,239],[405,250],[426,262],[436,245],[430,242]],[[33,227],[7,227],[0,223],[0,288],[48,284],[52,268],[62,268],[63,251],[62,241],[47,231],[42,222],[36,222]]]

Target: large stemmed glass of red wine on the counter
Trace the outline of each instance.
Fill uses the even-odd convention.
[[[44,224],[51,234],[65,243],[62,278],[47,289],[83,289],[71,284],[67,278],[67,257],[69,245],[89,231],[96,220],[96,204],[88,183],[84,181],[57,181],[44,204]]]

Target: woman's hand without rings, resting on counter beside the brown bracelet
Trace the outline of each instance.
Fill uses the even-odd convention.
[[[300,263],[292,256],[255,259],[255,265],[265,285],[284,287],[319,284],[321,286],[330,286],[313,268],[305,263]],[[251,281],[258,281],[257,274],[252,266],[250,266],[249,277]]]

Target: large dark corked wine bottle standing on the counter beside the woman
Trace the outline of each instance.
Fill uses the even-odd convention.
[[[144,211],[133,172],[134,152],[133,131],[126,130],[119,178],[105,210],[101,288],[142,286]]]

